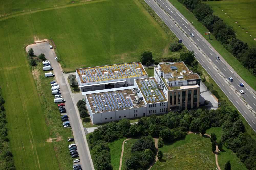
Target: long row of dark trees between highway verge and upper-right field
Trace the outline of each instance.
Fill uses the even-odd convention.
[[[212,8],[199,0],[178,0],[200,21],[241,64],[256,76],[256,47],[237,39],[236,33],[218,16]]]

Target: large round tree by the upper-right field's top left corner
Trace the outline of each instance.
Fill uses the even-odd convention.
[[[198,21],[202,21],[207,15],[212,15],[213,10],[208,4],[197,3],[193,9],[193,14],[198,19]]]

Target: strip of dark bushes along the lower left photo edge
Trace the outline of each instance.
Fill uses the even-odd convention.
[[[13,155],[8,148],[6,115],[4,108],[4,98],[0,94],[0,167],[1,169],[15,170]]]

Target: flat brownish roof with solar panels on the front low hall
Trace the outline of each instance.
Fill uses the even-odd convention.
[[[134,103],[135,94],[131,89],[104,93],[87,94],[93,113],[143,107],[145,103]]]

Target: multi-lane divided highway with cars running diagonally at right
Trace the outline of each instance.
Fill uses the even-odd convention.
[[[214,79],[256,132],[256,92],[232,69],[222,56],[168,0],[145,0],[145,2],[165,22],[170,30],[179,39],[182,39],[182,43],[188,50],[195,52],[197,61]],[[191,33],[195,37],[191,37]],[[220,60],[217,60],[215,58],[216,56]],[[233,81],[230,82],[228,77],[232,77]],[[241,87],[239,85],[240,83],[243,83],[244,87]],[[239,90],[243,90],[244,94],[241,94]]]

